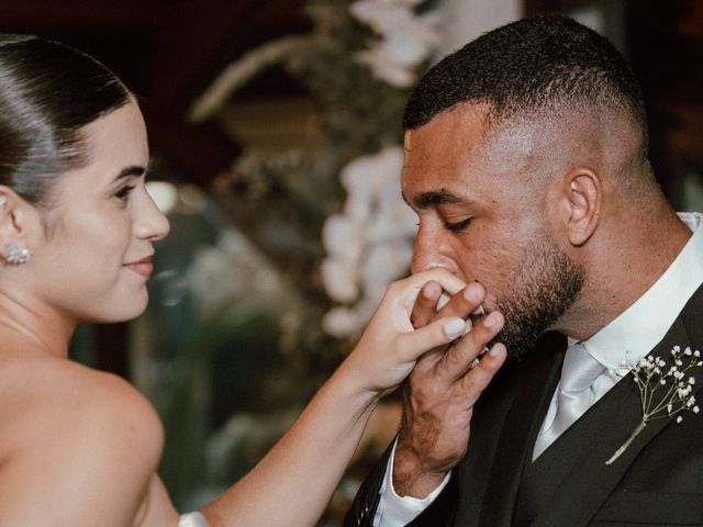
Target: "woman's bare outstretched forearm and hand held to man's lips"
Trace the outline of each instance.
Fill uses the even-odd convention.
[[[391,284],[354,351],[290,430],[241,482],[203,508],[212,527],[315,525],[381,395],[408,377],[421,355],[466,330],[459,317],[413,328],[415,299],[431,280],[451,294],[465,285],[440,269]]]

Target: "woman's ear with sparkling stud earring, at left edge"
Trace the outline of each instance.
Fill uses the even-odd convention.
[[[9,187],[0,184],[0,256],[8,264],[24,264],[32,257],[27,247],[34,208]]]

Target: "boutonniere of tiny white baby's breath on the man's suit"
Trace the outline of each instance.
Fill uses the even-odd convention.
[[[695,378],[689,373],[692,368],[703,367],[701,352],[691,351],[691,348],[681,350],[680,346],[674,346],[671,349],[671,361],[672,365],[667,368],[667,362],[660,357],[647,356],[631,368],[633,379],[639,388],[641,422],[605,464],[612,464],[620,458],[650,421],[676,418],[679,424],[683,421],[681,414],[684,411],[694,414],[700,412],[692,394]]]

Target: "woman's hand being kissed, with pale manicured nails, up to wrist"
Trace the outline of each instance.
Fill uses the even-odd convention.
[[[425,287],[428,282],[431,285]],[[415,329],[411,317],[421,291],[438,296],[442,290],[455,294],[465,285],[444,269],[432,269],[391,283],[339,373],[378,396],[395,389],[423,354],[444,347],[467,330],[464,318],[469,312],[439,317]],[[436,305],[436,298],[434,303]]]

